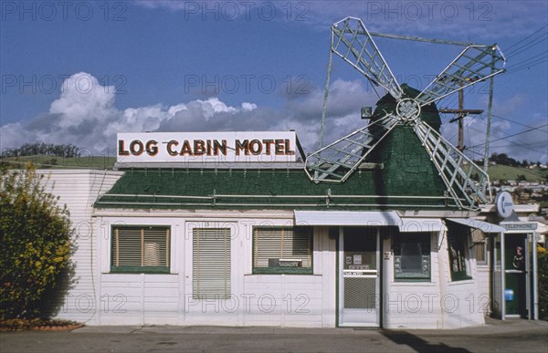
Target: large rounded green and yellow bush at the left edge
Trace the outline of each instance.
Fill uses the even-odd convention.
[[[45,296],[70,267],[68,209],[42,179],[31,164],[0,171],[0,319],[46,318]]]

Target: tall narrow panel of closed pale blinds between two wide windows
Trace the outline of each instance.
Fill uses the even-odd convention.
[[[230,228],[193,229],[193,297],[230,298]]]

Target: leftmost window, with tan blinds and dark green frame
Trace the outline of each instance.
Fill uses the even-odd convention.
[[[112,227],[112,272],[169,273],[170,227]]]

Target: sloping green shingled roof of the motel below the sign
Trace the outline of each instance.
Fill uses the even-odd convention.
[[[129,170],[96,208],[338,209],[444,207],[443,194],[407,188],[393,198],[376,197],[380,170],[357,171],[342,184],[313,183],[304,170]],[[372,196],[372,197],[365,197]],[[409,196],[433,196],[415,199]]]

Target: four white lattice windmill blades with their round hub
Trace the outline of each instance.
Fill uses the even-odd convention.
[[[479,202],[490,202],[487,173],[421,119],[421,109],[504,72],[506,58],[499,47],[467,45],[416,97],[406,95],[361,19],[346,17],[332,26],[331,51],[384,88],[395,99],[395,108],[311,153],[305,171],[312,182],[345,182],[395,127],[406,125],[413,127],[459,208],[477,209]]]

